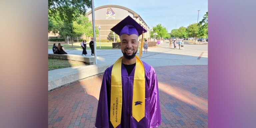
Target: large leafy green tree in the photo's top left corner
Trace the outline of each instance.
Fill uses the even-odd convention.
[[[48,0],[48,32],[59,34],[61,37],[70,36],[72,47],[73,37],[82,34],[81,22],[77,20],[81,15],[86,15],[86,9],[91,7],[90,0]],[[62,21],[62,23],[54,24],[55,21]]]

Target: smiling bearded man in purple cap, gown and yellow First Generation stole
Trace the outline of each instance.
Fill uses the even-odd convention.
[[[138,36],[146,30],[130,16],[111,30],[120,36],[123,56],[104,72],[95,127],[158,127],[162,120],[156,73],[136,56]]]

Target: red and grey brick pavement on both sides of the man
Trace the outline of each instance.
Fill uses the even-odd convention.
[[[208,127],[208,66],[156,67],[159,128]],[[48,128],[94,128],[102,76],[48,93]]]

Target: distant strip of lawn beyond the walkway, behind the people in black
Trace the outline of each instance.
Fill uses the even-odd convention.
[[[58,43],[59,42],[56,42],[57,46],[58,46]],[[81,42],[79,42],[79,43],[73,42],[73,47],[72,47],[71,42],[69,42],[69,44],[61,43],[61,46],[63,46],[64,49],[82,50],[82,47],[81,47],[80,43]],[[52,46],[53,46],[53,43],[48,43],[48,49],[52,49]],[[89,42],[87,42],[87,46],[88,46],[87,49],[90,49]],[[100,48],[100,46],[101,46],[101,48]],[[112,42],[111,43],[101,42],[101,44],[99,42],[97,42],[96,49],[113,49]]]

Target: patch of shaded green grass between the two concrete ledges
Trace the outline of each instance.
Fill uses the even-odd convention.
[[[64,60],[64,59],[50,59],[48,58],[48,71],[60,68],[68,68],[73,66],[88,65],[81,61]]]

